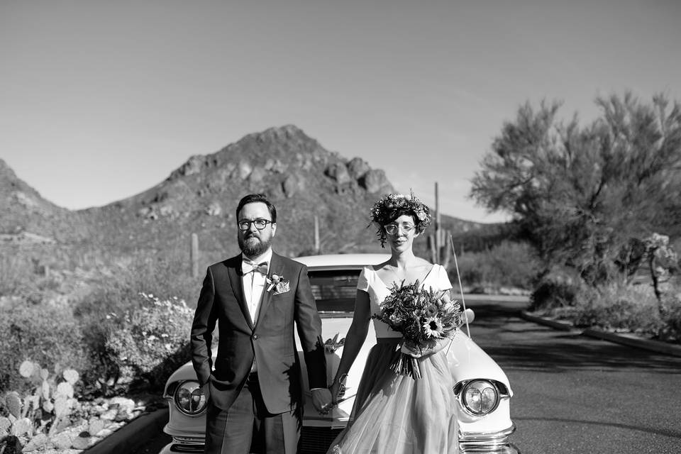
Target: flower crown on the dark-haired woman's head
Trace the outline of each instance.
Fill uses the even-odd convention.
[[[409,192],[408,196],[404,194],[382,196],[372,206],[370,214],[371,223],[377,226],[376,236],[381,242],[381,247],[384,247],[387,238],[383,226],[394,221],[400,214],[414,216],[416,233],[423,233],[432,220],[431,209],[423,204],[419,197],[414,195],[414,192]],[[371,226],[371,223],[369,226]]]

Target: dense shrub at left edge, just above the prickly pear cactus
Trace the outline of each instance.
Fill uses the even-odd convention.
[[[0,391],[23,390],[17,374],[24,360],[50,370],[55,366],[85,367],[82,331],[68,307],[26,304],[0,308]]]

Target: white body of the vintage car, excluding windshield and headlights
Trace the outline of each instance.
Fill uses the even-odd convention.
[[[338,335],[338,339],[345,336],[352,321],[352,314],[347,309],[343,311],[325,310],[323,303],[319,303],[319,294],[325,292],[323,276],[330,277],[331,281],[336,279],[336,274],[343,276],[344,272],[359,275],[362,267],[375,265],[387,259],[385,254],[338,254],[338,255],[311,255],[296,258],[299,262],[307,265],[313,292],[318,299],[318,309],[322,318],[322,334],[324,339],[333,339]],[[316,285],[316,276],[321,275],[319,285]],[[347,285],[343,286],[345,283]],[[351,279],[340,279],[337,285],[341,299],[347,300],[350,291],[355,289]],[[350,285],[352,284],[352,285]],[[326,290],[334,291],[333,286],[324,287]],[[335,294],[334,294],[335,295]],[[347,302],[345,303],[347,308]],[[509,443],[509,436],[515,430],[513,421],[510,417],[509,401],[512,397],[511,386],[504,371],[497,365],[492,358],[485,353],[471,338],[465,333],[465,327],[460,330],[450,345],[448,358],[450,370],[452,371],[456,386],[453,392],[457,394],[457,408],[459,427],[459,453],[518,453],[514,445]],[[296,338],[297,345],[299,345]],[[302,367],[302,377],[304,381],[304,393],[306,395],[306,406],[304,409],[303,434],[301,441],[301,453],[326,453],[326,448],[333,441],[336,434],[340,432],[348,423],[350,411],[353,408],[354,396],[357,390],[365,360],[369,350],[375,344],[376,337],[373,326],[370,327],[362,350],[353,363],[353,367],[348,373],[345,382],[345,396],[338,406],[327,415],[320,415],[312,406],[307,373],[303,355],[299,358]],[[299,348],[300,350],[300,348]],[[336,375],[338,362],[341,360],[343,347],[338,347],[335,351],[326,354],[327,378],[330,383]],[[489,414],[476,416],[468,411],[463,402],[463,392],[465,385],[474,380],[485,380],[493,384],[499,396],[498,404]],[[168,400],[170,407],[170,419],[164,431],[173,437],[162,454],[167,453],[202,453],[204,444],[204,431],[206,428],[205,411],[190,415],[181,411],[177,406],[173,395],[178,384],[196,381],[196,373],[191,362],[179,367],[167,380],[164,397]]]

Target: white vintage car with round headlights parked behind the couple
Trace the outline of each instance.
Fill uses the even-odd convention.
[[[326,341],[328,382],[336,374],[343,353],[343,337],[353,316],[357,279],[362,267],[387,259],[385,254],[311,255],[295,260],[308,266],[312,291],[321,315]],[[473,314],[468,309],[469,320]],[[457,333],[448,353],[455,386],[458,415],[459,453],[518,453],[509,443],[515,430],[509,401],[513,392],[504,371],[467,336],[468,326]],[[297,340],[298,342],[298,340]],[[311,404],[303,355],[306,407],[301,435],[301,453],[326,453],[333,438],[348,423],[354,395],[375,333],[370,328],[367,341],[345,382],[345,395],[328,415],[321,415]],[[300,345],[298,343],[298,345]],[[196,382],[192,363],[179,367],[168,379],[163,397],[170,407],[170,421],[164,431],[172,436],[162,454],[202,453],[204,449],[206,399]]]

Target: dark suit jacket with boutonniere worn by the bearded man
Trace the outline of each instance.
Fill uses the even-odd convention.
[[[301,405],[301,372],[294,321],[307,365],[311,388],[326,387],[326,358],[321,319],[312,296],[307,267],[272,253],[268,277],[289,281],[289,291],[267,292],[265,284],[258,320],[250,321],[243,293],[242,256],[208,267],[192,324],[192,362],[211,402],[221,409],[233,404],[251,370],[258,367],[262,399],[272,414]],[[212,332],[218,323],[218,351],[211,358]]]

